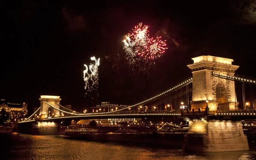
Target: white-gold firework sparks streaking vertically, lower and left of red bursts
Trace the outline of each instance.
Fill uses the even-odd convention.
[[[99,67],[99,59],[96,59],[94,56],[90,58],[91,60],[94,61],[94,63],[91,63],[88,66],[84,64],[85,70],[84,70],[84,89],[87,90],[88,92],[91,92],[93,90],[97,90],[98,88],[98,82],[99,82],[99,72],[98,72],[98,67]],[[88,71],[90,70],[90,74]]]

